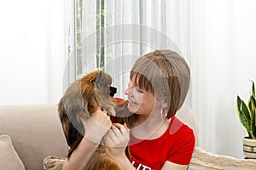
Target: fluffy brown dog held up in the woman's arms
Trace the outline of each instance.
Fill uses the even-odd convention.
[[[112,116],[119,116],[119,114],[127,114],[129,112],[127,110],[127,101],[117,104],[116,99],[113,98],[115,88],[110,86],[111,82],[112,78],[107,73],[94,71],[73,82],[61,98],[58,105],[59,114],[67,144],[70,146],[67,157],[71,156],[73,150],[83,139],[85,132],[83,123],[80,121],[81,118],[86,119],[99,106]],[[123,119],[120,118],[119,122],[123,122]],[[85,169],[120,170],[123,168],[109,154],[108,147],[100,144]]]

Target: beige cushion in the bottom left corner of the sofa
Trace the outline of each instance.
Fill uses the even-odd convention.
[[[0,135],[0,168],[8,170],[25,170],[9,135]]]

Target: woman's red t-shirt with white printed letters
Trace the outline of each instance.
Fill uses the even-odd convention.
[[[137,170],[159,170],[166,161],[188,165],[195,148],[193,130],[175,116],[160,138],[138,141],[131,136],[128,156]]]

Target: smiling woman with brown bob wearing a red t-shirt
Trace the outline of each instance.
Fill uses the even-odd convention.
[[[134,113],[127,117],[129,128],[115,124],[104,137],[124,169],[187,169],[195,136],[175,114],[189,90],[189,78],[189,66],[171,50],[137,59],[125,90]]]

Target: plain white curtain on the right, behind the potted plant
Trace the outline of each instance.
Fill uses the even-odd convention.
[[[247,135],[236,114],[236,95],[247,101],[256,80],[253,0],[191,3],[192,109],[207,150],[242,158]]]

